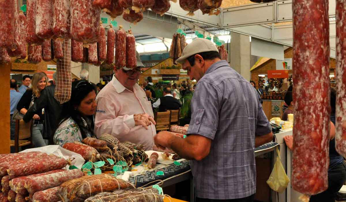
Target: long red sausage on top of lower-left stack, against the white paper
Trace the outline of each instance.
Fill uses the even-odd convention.
[[[37,163],[39,162],[39,163]],[[61,169],[67,165],[67,161],[64,158],[60,158],[55,155],[48,155],[41,158],[39,161],[28,161],[27,163],[19,165],[11,165],[7,173],[10,179],[33,175],[37,173],[44,173],[51,170]]]

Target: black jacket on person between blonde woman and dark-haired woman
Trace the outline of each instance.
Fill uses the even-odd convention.
[[[58,120],[60,118],[62,106],[54,98],[55,85],[47,86],[41,91],[41,95],[34,102],[34,105],[28,109],[28,112],[23,117],[25,122],[29,122],[37,109],[45,108],[45,123],[43,129],[43,138],[48,139],[49,142],[53,140],[54,131],[58,125]]]

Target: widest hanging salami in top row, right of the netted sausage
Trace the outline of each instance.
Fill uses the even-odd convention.
[[[101,8],[92,6],[93,0],[71,0],[72,39],[92,44],[100,35]]]

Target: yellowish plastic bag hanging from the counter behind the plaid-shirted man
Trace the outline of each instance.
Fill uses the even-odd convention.
[[[274,164],[272,173],[270,174],[269,179],[267,180],[267,184],[270,186],[270,188],[272,188],[272,190],[281,193],[286,189],[288,183],[290,182],[290,179],[286,175],[285,169],[282,166],[280,160],[280,151],[277,147],[276,154],[276,162]]]

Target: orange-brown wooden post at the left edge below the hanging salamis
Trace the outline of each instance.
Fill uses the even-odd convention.
[[[10,71],[10,64],[0,65],[0,154],[10,153]]]

